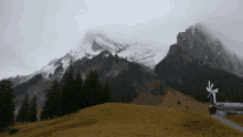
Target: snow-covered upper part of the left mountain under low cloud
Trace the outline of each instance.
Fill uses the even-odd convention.
[[[40,71],[22,76],[14,85],[27,82],[38,74],[42,74],[45,80],[49,80],[49,75],[54,74],[59,66],[63,67],[61,77],[59,77],[61,80],[71,60],[75,62],[84,57],[92,59],[105,50],[109,51],[113,55],[117,53],[119,56],[127,57],[130,62],[137,62],[154,70],[155,65],[167,55],[169,46],[145,42],[126,42],[125,40],[114,39],[101,32],[89,31],[85,34],[82,44],[77,49],[71,50],[61,59],[52,60]],[[14,81],[15,77],[11,80]]]

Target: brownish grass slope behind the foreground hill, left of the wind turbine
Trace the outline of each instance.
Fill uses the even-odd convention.
[[[148,88],[155,88],[156,86],[160,86],[157,83],[148,83],[146,85]],[[189,95],[183,95],[182,93],[169,87],[166,85],[165,95],[151,95],[149,92],[139,92],[138,97],[134,101],[134,104],[138,105],[149,105],[149,106],[158,106],[158,107],[172,107],[172,108],[182,108],[182,109],[192,109],[194,113],[200,114],[209,114],[209,105],[211,103],[201,103]],[[146,96],[142,96],[146,94]],[[152,98],[150,98],[150,96]],[[180,105],[177,104],[178,99],[180,101]],[[188,108],[187,108],[188,107]]]

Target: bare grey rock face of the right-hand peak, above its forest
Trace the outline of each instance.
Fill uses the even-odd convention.
[[[230,53],[203,24],[196,24],[177,35],[177,44],[171,45],[168,55],[181,56],[184,62],[209,65],[235,75],[243,75],[242,62]]]

